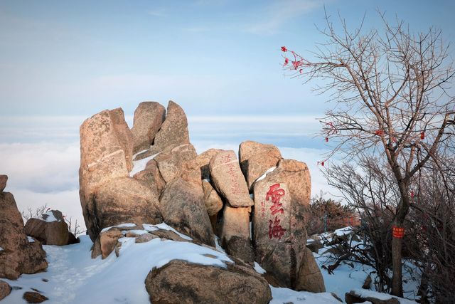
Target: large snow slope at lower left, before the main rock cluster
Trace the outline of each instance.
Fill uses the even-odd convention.
[[[158,225],[154,225],[158,226]],[[161,225],[164,226],[164,225]],[[80,236],[80,243],[68,246],[43,246],[48,270],[22,275],[17,281],[4,280],[14,289],[2,304],[26,303],[22,295],[36,288],[49,298],[46,303],[149,303],[144,281],[152,268],[162,267],[173,259],[226,267],[233,263],[225,254],[194,243],[153,239],[135,243],[122,238],[119,257],[111,253],[105,260],[92,259],[92,241]],[[42,279],[47,279],[44,282]]]

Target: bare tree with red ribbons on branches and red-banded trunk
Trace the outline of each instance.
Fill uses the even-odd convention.
[[[328,80],[319,93],[334,104],[323,117],[323,137],[333,143],[331,153],[345,162],[377,158],[390,169],[399,194],[392,217],[392,294],[402,296],[402,235],[414,194],[414,175],[432,159],[441,162],[440,150],[453,149],[455,100],[449,94],[454,76],[441,31],[429,28],[413,34],[402,21],[391,25],[383,14],[382,31],[363,30],[363,22],[349,31],[340,18],[337,33],[326,15],[326,43],[317,47],[314,60],[284,51],[289,75]],[[321,164],[325,164],[324,159]]]

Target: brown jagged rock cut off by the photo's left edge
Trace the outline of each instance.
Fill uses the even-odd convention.
[[[48,267],[41,243],[29,242],[13,194],[0,193],[0,278],[16,280],[22,273]]]

